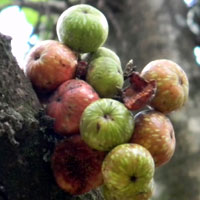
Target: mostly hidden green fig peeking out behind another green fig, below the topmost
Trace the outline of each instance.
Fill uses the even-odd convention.
[[[109,57],[112,58],[115,62],[117,62],[121,66],[121,61],[118,55],[107,47],[99,47],[95,52],[92,52],[88,55],[88,62],[99,58],[99,57]]]

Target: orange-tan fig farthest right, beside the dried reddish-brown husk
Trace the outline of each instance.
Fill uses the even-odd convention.
[[[169,113],[187,102],[189,82],[183,69],[175,62],[166,59],[152,61],[144,67],[141,76],[157,83],[157,92],[150,104],[154,109]]]

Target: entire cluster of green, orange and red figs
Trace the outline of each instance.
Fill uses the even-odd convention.
[[[59,41],[33,47],[24,67],[60,138],[51,155],[55,182],[71,195],[100,187],[106,200],[150,199],[156,167],[175,152],[170,113],[187,102],[187,75],[167,59],[140,73],[132,62],[123,68],[103,46],[105,16],[90,5],[64,11],[57,34]]]

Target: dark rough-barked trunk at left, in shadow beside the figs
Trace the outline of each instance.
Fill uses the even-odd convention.
[[[98,190],[71,197],[54,181],[52,120],[0,34],[0,200],[102,199]]]

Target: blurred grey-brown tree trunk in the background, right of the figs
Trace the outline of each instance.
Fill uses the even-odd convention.
[[[200,199],[200,68],[193,55],[194,38],[186,26],[186,7],[182,0],[127,0],[123,12],[116,13],[109,45],[122,63],[133,59],[140,71],[148,62],[166,58],[187,73],[190,94],[187,105],[169,115],[176,133],[172,160],[156,169],[153,200]],[[189,187],[189,188],[188,188]]]

